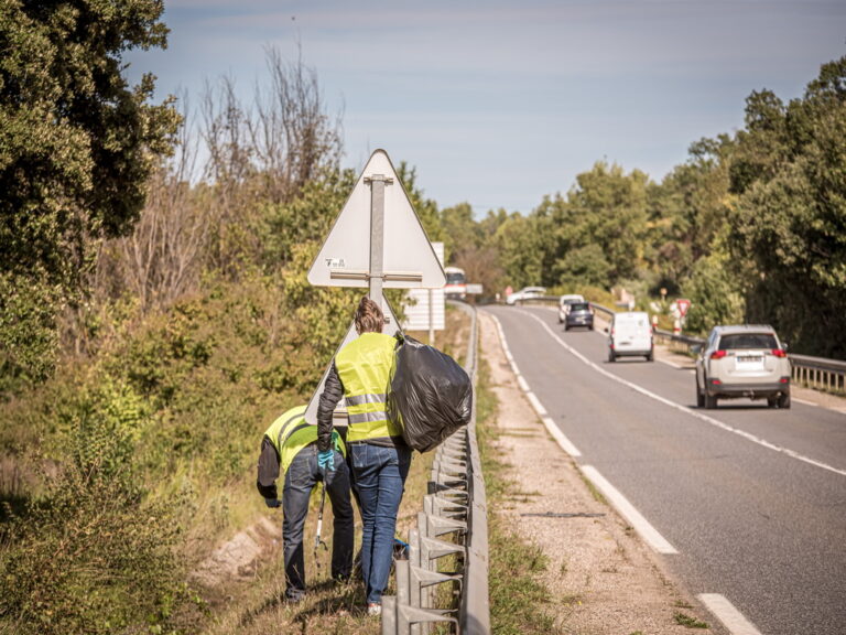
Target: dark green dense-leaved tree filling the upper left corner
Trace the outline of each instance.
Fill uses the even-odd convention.
[[[55,318],[82,292],[96,241],[132,229],[170,151],[178,115],[170,99],[149,103],[151,75],[129,86],[121,60],[166,45],[162,11],[161,0],[0,7],[3,373],[50,370]]]

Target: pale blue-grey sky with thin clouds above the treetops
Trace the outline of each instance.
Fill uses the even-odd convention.
[[[265,51],[314,68],[345,166],[384,149],[440,207],[528,213],[599,160],[660,181],[746,97],[800,97],[846,55],[824,0],[165,0],[166,51],[132,52],[156,97],[223,75],[249,101]]]

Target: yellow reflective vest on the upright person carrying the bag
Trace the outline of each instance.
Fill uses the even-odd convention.
[[[402,435],[386,411],[394,345],[390,335],[362,333],[335,357],[349,416],[347,443]]]

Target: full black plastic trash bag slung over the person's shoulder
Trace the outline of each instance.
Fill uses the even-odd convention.
[[[429,452],[466,426],[473,384],[458,363],[434,346],[404,336],[394,352],[388,417],[414,450]]]

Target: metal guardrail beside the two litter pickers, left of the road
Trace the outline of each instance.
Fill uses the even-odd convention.
[[[476,311],[462,302],[471,319],[465,370],[476,386]],[[452,537],[452,540],[444,538]],[[409,530],[408,560],[394,560],[397,595],[382,596],[382,635],[429,633],[434,622],[455,624],[456,633],[490,634],[488,596],[488,520],[485,481],[476,440],[476,399],[469,426],[456,431],[435,451],[417,526]],[[444,572],[438,560],[453,557],[457,571]],[[458,590],[458,607],[436,606],[436,588]]]

